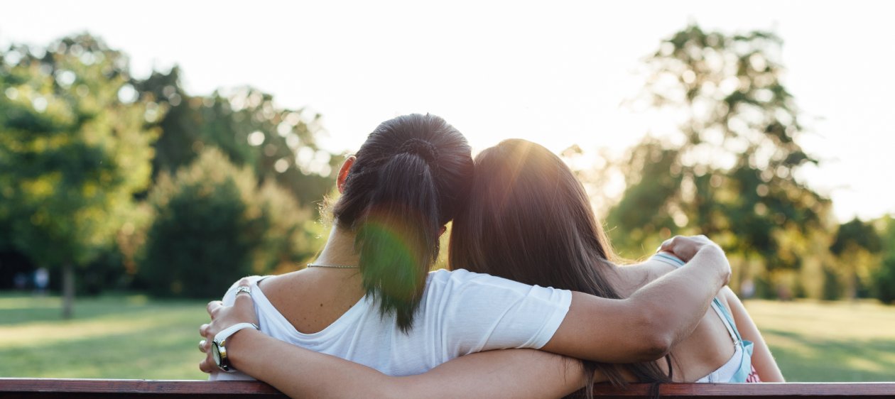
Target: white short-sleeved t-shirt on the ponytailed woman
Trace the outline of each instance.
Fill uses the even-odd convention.
[[[517,283],[467,270],[437,270],[426,281],[413,328],[404,333],[393,315],[379,316],[364,297],[322,331],[298,332],[270,304],[253,277],[251,299],[267,335],[312,351],[361,363],[390,376],[420,374],[459,356],[493,349],[539,349],[566,318],[572,293]],[[231,305],[235,286],[224,295]],[[219,372],[210,379],[251,379]]]

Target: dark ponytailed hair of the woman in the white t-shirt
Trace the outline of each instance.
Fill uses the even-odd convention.
[[[379,124],[356,157],[333,216],[356,233],[364,291],[406,332],[438,258],[441,227],[465,204],[471,149],[444,119],[414,114]]]

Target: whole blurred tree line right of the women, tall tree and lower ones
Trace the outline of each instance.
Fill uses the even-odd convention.
[[[839,225],[831,201],[796,178],[818,160],[797,142],[805,128],[781,82],[780,47],[771,32],[695,25],[661,42],[644,98],[677,116],[678,132],[648,135],[613,165],[626,190],[607,216],[612,242],[639,257],[672,235],[703,233],[727,251],[731,285],[747,296],[892,301],[891,218]]]

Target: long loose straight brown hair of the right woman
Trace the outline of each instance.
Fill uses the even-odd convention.
[[[584,186],[548,149],[504,140],[475,157],[469,206],[451,230],[450,267],[618,299],[608,276],[614,258]],[[614,385],[625,385],[623,369],[638,381],[670,381],[670,362],[668,375],[655,362],[582,364],[588,397],[596,370]]]

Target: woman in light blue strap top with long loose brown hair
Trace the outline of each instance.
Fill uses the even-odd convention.
[[[683,264],[660,253],[618,266],[584,186],[538,144],[504,140],[482,151],[475,167],[471,206],[456,216],[451,231],[451,267],[618,299]],[[583,366],[588,376],[600,371],[615,384],[782,381],[762,336],[727,287],[664,362]]]

